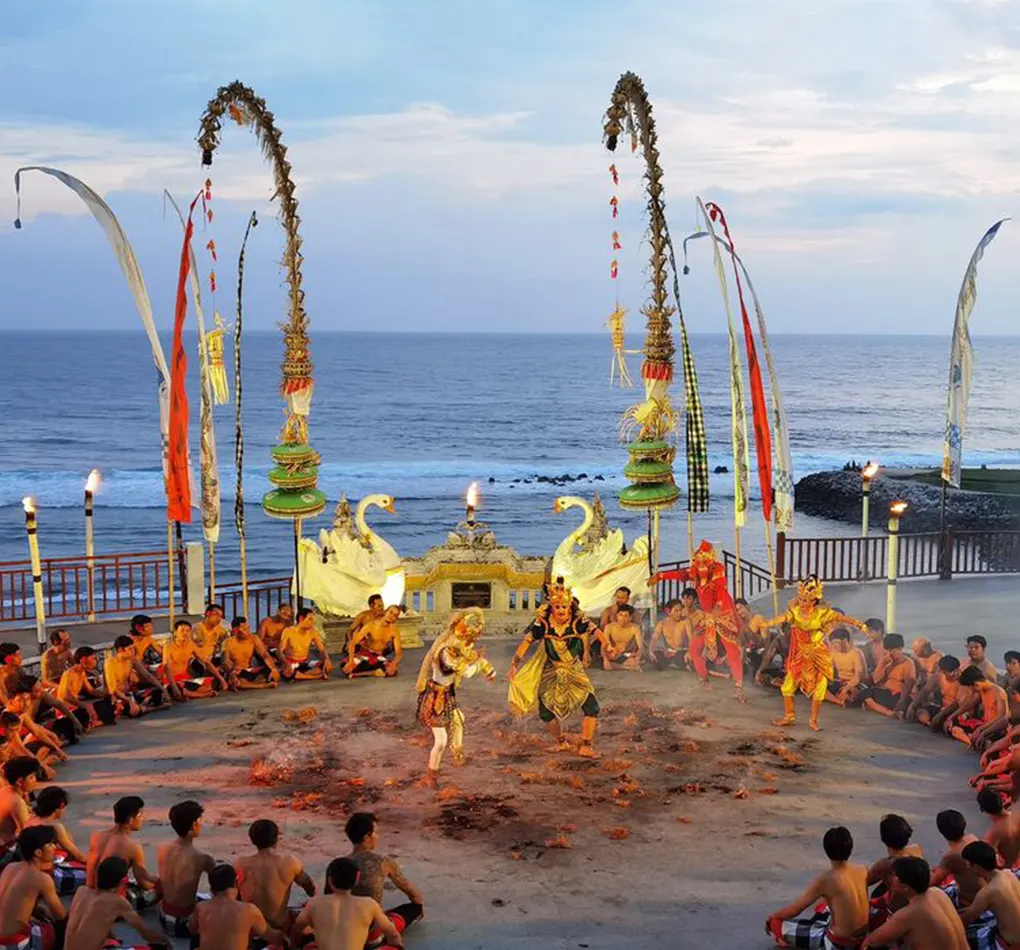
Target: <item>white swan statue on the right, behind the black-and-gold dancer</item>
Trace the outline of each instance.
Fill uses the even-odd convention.
[[[610,530],[602,500],[563,495],[553,502],[557,514],[580,508],[584,519],[560,542],[553,555],[552,576],[562,577],[573,589],[585,613],[598,616],[609,606],[617,588],[630,588],[630,602],[646,607],[652,602],[648,588],[648,539],[635,538],[627,551],[620,529]]]

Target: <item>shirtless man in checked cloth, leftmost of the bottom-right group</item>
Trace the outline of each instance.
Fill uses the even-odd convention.
[[[815,878],[792,904],[765,921],[765,932],[780,947],[816,950],[852,950],[860,947],[868,931],[868,869],[851,864],[854,839],[846,828],[830,828],[822,839],[828,870]],[[828,910],[796,919],[809,907],[825,901]]]

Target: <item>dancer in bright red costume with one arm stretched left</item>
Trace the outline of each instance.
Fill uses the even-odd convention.
[[[736,698],[744,701],[744,651],[741,649],[740,622],[733,598],[726,590],[726,568],[716,556],[715,548],[708,541],[703,541],[695,551],[690,567],[678,570],[663,570],[649,578],[648,586],[655,587],[660,581],[682,581],[693,584],[698,592],[698,601],[707,614],[705,626],[708,630],[704,635],[693,631],[691,643],[691,661],[695,670],[708,682],[709,660],[716,658],[718,642],[726,652],[726,664],[733,678],[733,691]]]

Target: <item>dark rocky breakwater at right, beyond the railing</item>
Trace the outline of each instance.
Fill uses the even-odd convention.
[[[857,471],[820,471],[805,476],[795,488],[798,511],[816,517],[855,524],[861,523],[861,476]],[[904,533],[923,534],[939,528],[941,489],[909,478],[879,476],[871,484],[870,527],[885,532],[889,503],[909,504],[901,522]],[[1018,499],[986,492],[950,490],[946,499],[946,520],[951,528],[970,531],[1002,531],[1020,528]]]

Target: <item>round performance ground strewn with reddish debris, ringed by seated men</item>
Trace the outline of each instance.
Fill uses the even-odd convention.
[[[506,670],[512,645],[490,644]],[[103,730],[58,781],[82,839],[113,801],[141,794],[155,847],[166,809],[206,806],[204,850],[250,850],[271,817],[317,882],[348,850],[347,816],[379,818],[380,850],[424,892],[420,948],[767,947],[764,917],[822,861],[820,836],[846,823],[858,857],[879,856],[877,822],[907,815],[937,851],[937,810],[973,816],[972,757],[926,730],[826,707],[825,731],[777,730],[775,690],[703,691],[686,673],[594,673],[602,760],[550,751],[537,719],[506,713],[505,674],[461,690],[469,761],[439,792],[418,785],[430,744],[414,719],[410,651],[392,681],[335,681],[196,702]],[[804,702],[801,700],[800,702]],[[806,718],[807,708],[801,708]],[[576,733],[578,720],[570,723]],[[975,824],[979,822],[975,819]],[[402,900],[387,896],[390,905]]]

